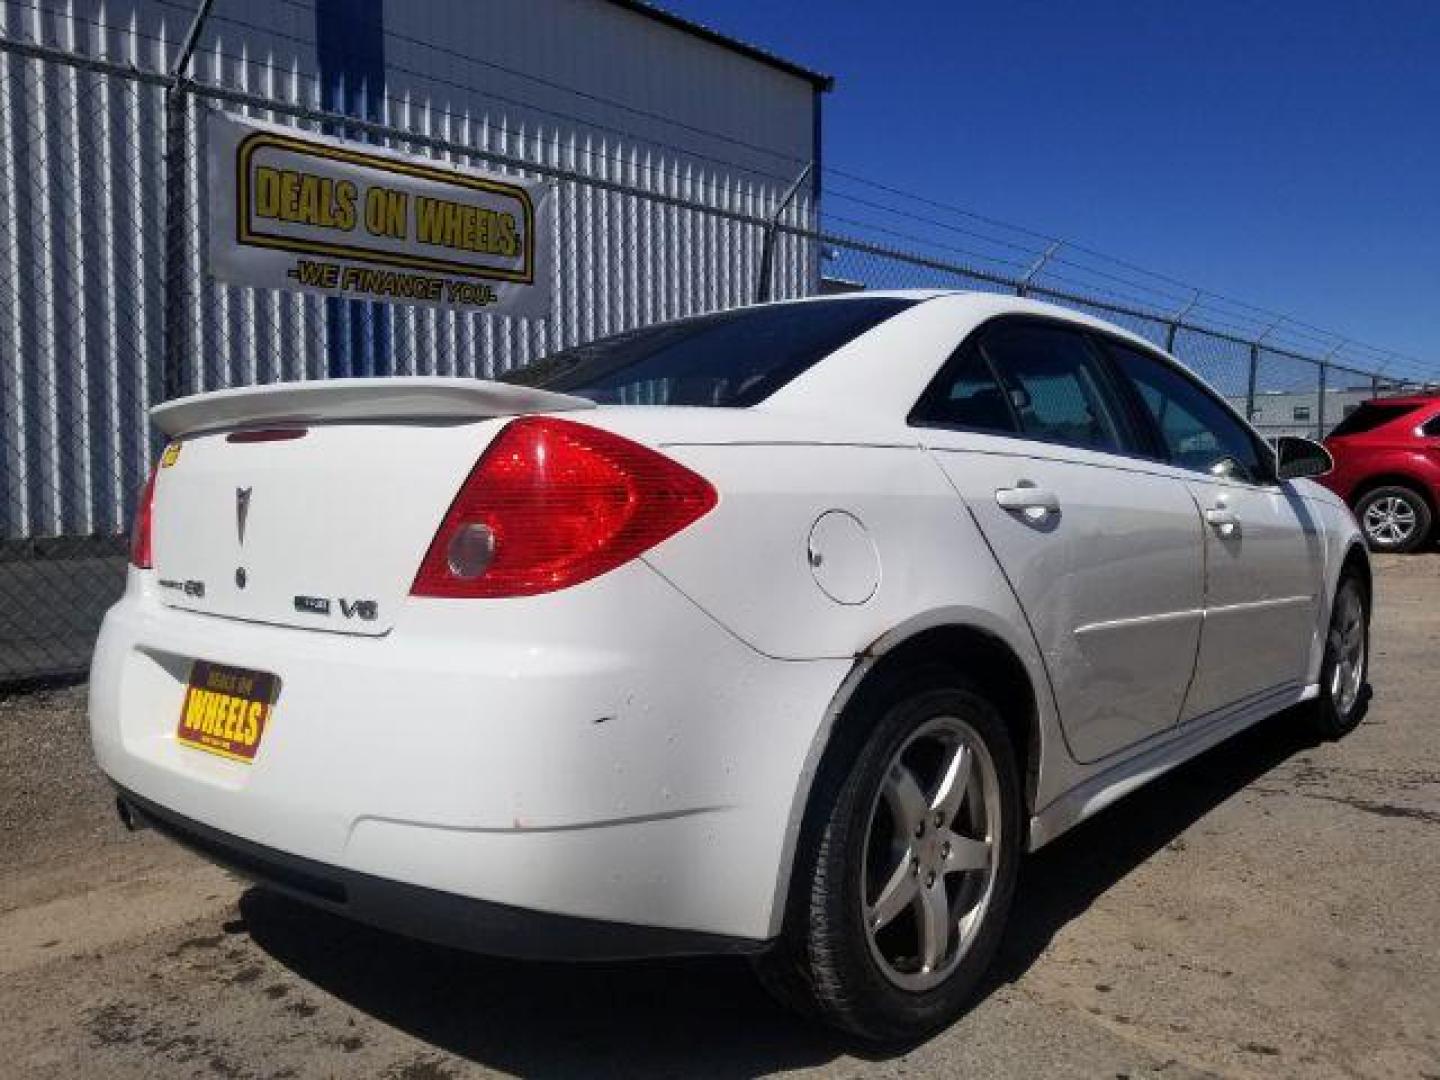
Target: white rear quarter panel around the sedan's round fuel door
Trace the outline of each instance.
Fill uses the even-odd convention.
[[[795,661],[858,661],[937,625],[986,631],[1020,657],[1035,688],[1037,802],[1073,782],[1025,616],[927,451],[730,444],[665,452],[721,492],[710,516],[645,556],[697,606],[755,649]],[[874,589],[863,602],[832,599],[811,566],[812,527],[829,511],[858,521],[873,549]]]

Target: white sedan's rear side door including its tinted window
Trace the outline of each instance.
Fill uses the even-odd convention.
[[[910,418],[1009,579],[1083,762],[1178,723],[1200,642],[1200,517],[1133,455],[1125,400],[1081,331],[1002,318]]]

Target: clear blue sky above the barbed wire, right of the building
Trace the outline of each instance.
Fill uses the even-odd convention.
[[[827,166],[1440,370],[1440,3],[665,0],[837,76]]]

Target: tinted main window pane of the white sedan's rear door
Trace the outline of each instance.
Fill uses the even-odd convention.
[[[1001,377],[1030,438],[1123,451],[1122,410],[1081,334],[1040,323],[1001,323],[981,347]]]

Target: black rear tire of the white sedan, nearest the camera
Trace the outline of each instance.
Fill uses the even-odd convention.
[[[971,683],[950,674],[924,672],[916,677],[912,672],[891,685],[896,688],[890,693],[870,694],[868,703],[858,704],[858,716],[847,717],[847,721],[858,720],[845,724],[851,733],[850,746],[838,747],[816,778],[806,828],[796,851],[785,929],[776,948],[756,962],[762,982],[782,1002],[876,1043],[903,1043],[929,1035],[953,1021],[969,1004],[999,945],[1022,844],[1015,752],[995,706]],[[865,924],[864,860],[867,845],[874,842],[873,806],[878,805],[881,786],[893,775],[891,762],[899,760],[906,747],[919,746],[913,740],[930,730],[927,724],[949,721],[962,724],[966,737],[978,736],[994,766],[998,828],[986,827],[992,838],[991,863],[986,865],[994,865],[994,877],[989,878],[984,907],[975,904],[971,909],[979,910],[976,922],[969,932],[956,932],[950,942],[953,968],[948,973],[922,973],[922,978],[943,981],[912,991],[896,985],[873,953]],[[979,766],[972,763],[971,768]],[[988,783],[982,782],[981,789],[986,789]],[[924,795],[932,806],[937,805],[930,802],[933,793],[926,786]],[[973,796],[965,798],[969,801]],[[969,809],[960,812],[975,812],[971,802],[966,806]],[[948,835],[959,837],[959,832]],[[940,832],[935,837],[939,838]],[[916,847],[919,844],[914,841]],[[943,851],[949,850],[948,844],[943,845]],[[984,876],[989,870],[939,874],[942,894],[952,913],[962,913],[962,922],[969,899],[958,890],[968,888],[971,881],[985,880],[975,878],[976,873]],[[903,917],[913,913],[919,935],[923,897],[919,883],[912,888],[914,906],[900,910],[906,912]],[[916,952],[919,958],[919,937]]]

